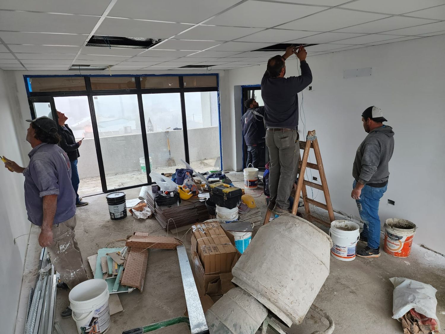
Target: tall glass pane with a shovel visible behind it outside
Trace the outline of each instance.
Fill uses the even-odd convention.
[[[184,168],[180,94],[142,94],[142,104],[151,170],[173,173],[176,168]]]

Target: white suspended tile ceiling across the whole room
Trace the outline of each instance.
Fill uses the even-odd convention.
[[[208,64],[214,59],[218,61],[214,65],[223,65],[221,62],[227,60],[225,64],[235,66],[237,61],[230,58],[247,58],[249,51],[274,42],[306,42],[309,38],[308,43],[311,43],[311,39],[319,44],[336,43],[340,45],[337,50],[343,50],[348,49],[344,45],[351,44],[352,48],[376,45],[380,41],[390,43],[408,39],[409,36],[438,34],[445,29],[443,0],[151,0],[151,7],[146,5],[145,0],[111,0],[111,3],[115,3],[111,8],[108,8],[110,0],[79,1],[73,5],[72,2],[57,0],[34,0],[32,4],[26,0],[4,0],[0,4],[0,41],[4,44],[0,45],[0,53],[10,53],[12,58],[0,54],[0,68],[2,65],[10,68],[9,65],[16,64],[6,64],[2,59],[15,59],[19,64],[21,62],[31,67],[45,65],[42,68],[51,65],[52,60],[55,67],[72,61],[92,65],[115,64],[115,68],[118,68],[139,63],[136,57],[147,58],[144,65],[157,67],[190,64],[193,62],[190,58],[210,58],[201,61]],[[376,7],[376,3],[382,5]],[[175,11],[171,10],[173,6]],[[109,11],[105,12],[107,8]],[[243,8],[248,8],[251,15],[246,17]],[[271,16],[270,11],[264,8],[273,8],[285,14]],[[150,14],[152,12],[156,12],[156,16]],[[343,19],[339,19],[339,16]],[[343,26],[339,27],[338,21]],[[87,37],[95,33],[117,36],[131,33],[147,37],[145,32],[148,30],[167,41],[153,50],[142,51],[85,46]],[[345,34],[327,34],[330,32]],[[272,41],[274,35],[277,38]],[[336,38],[331,38],[334,36]],[[339,37],[350,37],[351,41]],[[184,51],[185,45],[194,47],[190,48],[192,51]],[[323,52],[328,48],[331,52],[336,50],[332,46],[324,48],[323,45],[317,50]],[[165,56],[174,53],[177,57],[164,57],[161,62],[158,59],[150,61],[150,58],[157,57],[155,51]],[[308,51],[314,54],[310,48]],[[256,64],[266,58],[254,60],[249,57],[246,62]]]

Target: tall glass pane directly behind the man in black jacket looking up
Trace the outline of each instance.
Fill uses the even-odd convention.
[[[76,142],[82,140],[77,159],[79,172],[79,196],[102,192],[101,176],[97,163],[93,124],[87,96],[61,96],[54,98],[56,109],[68,117],[65,122],[73,131]]]

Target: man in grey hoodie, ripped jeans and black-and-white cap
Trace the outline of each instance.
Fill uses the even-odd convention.
[[[382,111],[376,106],[362,114],[364,130],[368,133],[356,152],[352,168],[354,183],[351,197],[356,200],[363,232],[360,240],[368,245],[357,251],[359,257],[380,256],[379,202],[388,187],[388,163],[394,151],[394,132]]]

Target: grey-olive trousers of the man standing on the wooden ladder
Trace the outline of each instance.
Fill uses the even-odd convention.
[[[289,196],[298,174],[300,157],[297,130],[267,130],[269,149],[269,192],[280,208],[289,207]]]

